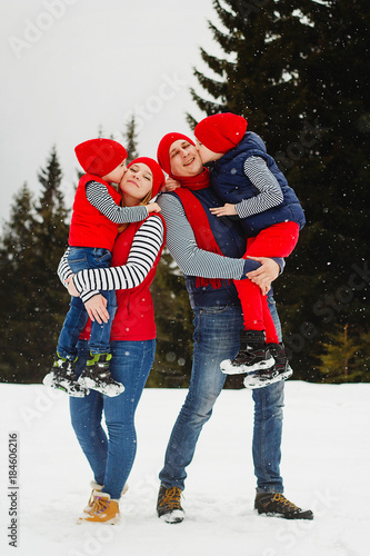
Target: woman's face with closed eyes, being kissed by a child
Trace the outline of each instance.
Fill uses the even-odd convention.
[[[149,166],[139,162],[127,169],[120,182],[126,207],[134,207],[149,193],[153,186],[153,175]]]

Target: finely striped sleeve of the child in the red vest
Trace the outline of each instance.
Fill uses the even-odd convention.
[[[107,187],[99,181],[87,182],[86,197],[99,212],[116,224],[140,222],[149,215],[143,205],[140,207],[119,207],[109,195]]]

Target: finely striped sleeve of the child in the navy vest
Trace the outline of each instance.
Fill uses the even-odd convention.
[[[243,199],[236,205],[240,218],[258,215],[277,207],[283,200],[279,181],[269,170],[261,157],[249,157],[244,162],[246,176],[250,179],[259,193],[249,199]]]

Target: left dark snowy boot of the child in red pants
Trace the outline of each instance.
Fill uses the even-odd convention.
[[[264,342],[262,330],[241,330],[240,349],[233,359],[221,361],[226,375],[242,375],[253,370],[266,370],[273,366],[274,359]]]

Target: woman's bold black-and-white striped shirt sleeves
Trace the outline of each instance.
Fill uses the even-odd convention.
[[[146,220],[133,236],[131,249],[126,265],[110,268],[81,270],[73,276],[73,284],[83,302],[100,292],[100,290],[131,289],[139,286],[148,276],[161,245],[163,242],[163,222],[159,217]],[[66,280],[73,272],[68,264],[68,252],[64,252],[58,267],[58,276]]]

